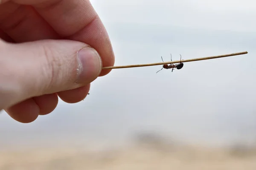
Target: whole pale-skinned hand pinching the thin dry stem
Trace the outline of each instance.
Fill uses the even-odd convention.
[[[0,0],[0,111],[18,122],[51,113],[58,96],[80,102],[113,65],[89,0]]]

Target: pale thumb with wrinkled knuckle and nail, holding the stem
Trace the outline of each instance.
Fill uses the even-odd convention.
[[[0,40],[0,109],[95,80],[102,68],[96,50],[71,40],[10,44]]]

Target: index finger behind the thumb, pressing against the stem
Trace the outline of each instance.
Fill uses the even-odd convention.
[[[108,33],[89,0],[13,0],[32,5],[49,25],[66,39],[87,43],[102,57],[102,66],[114,65]],[[100,76],[111,70],[102,70]]]

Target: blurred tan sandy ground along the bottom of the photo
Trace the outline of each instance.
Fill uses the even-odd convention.
[[[93,144],[91,145],[93,146]],[[0,153],[0,170],[255,170],[256,147],[207,148],[138,136],[127,147],[55,147]]]

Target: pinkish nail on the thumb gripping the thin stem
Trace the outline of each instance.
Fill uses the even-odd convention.
[[[87,84],[95,80],[102,69],[102,60],[93,48],[84,48],[78,52],[78,79],[76,83]]]

